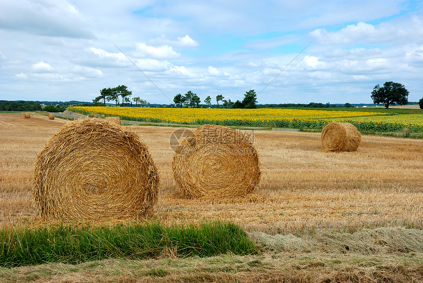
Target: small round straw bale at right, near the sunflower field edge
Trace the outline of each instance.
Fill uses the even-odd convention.
[[[327,124],[320,136],[325,151],[356,151],[362,141],[362,135],[350,123],[331,122]]]

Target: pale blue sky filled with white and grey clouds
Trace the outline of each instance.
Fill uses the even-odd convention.
[[[173,103],[188,90],[202,101],[218,94],[235,101],[249,89],[259,103],[371,103],[373,87],[387,81],[405,85],[409,101],[423,97],[423,1],[0,0],[0,7],[0,100],[91,102],[104,87],[126,85],[150,103]]]

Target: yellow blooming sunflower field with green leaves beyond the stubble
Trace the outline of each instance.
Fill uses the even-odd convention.
[[[120,116],[122,120],[171,124],[320,129],[332,121],[349,122],[361,131],[423,132],[423,114],[311,109],[204,109],[143,107],[68,107],[82,114]]]

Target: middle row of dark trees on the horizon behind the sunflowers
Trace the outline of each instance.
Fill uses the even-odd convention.
[[[181,108],[183,107],[183,105],[186,105],[190,108],[199,108],[201,99],[196,93],[193,93],[191,90],[189,90],[184,95],[182,95],[181,93],[175,95],[173,101],[176,105],[179,105]],[[231,99],[225,99],[223,95],[219,94],[216,95],[217,108],[219,108],[219,101],[223,103],[222,105],[224,108],[257,108],[257,94],[254,89],[246,91],[244,94],[244,99],[242,101],[237,100],[236,102],[233,102],[231,101]],[[207,96],[206,99],[204,99],[204,102],[206,103],[207,107],[211,107],[212,97],[210,95]]]

